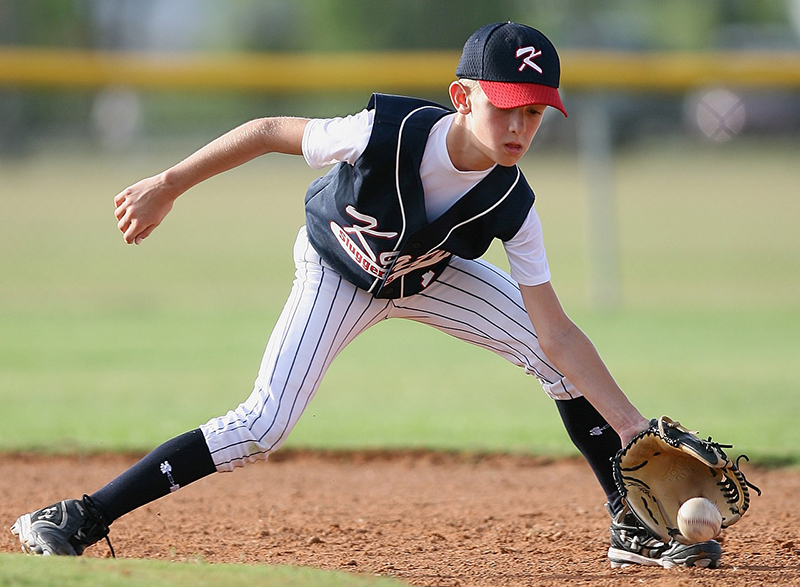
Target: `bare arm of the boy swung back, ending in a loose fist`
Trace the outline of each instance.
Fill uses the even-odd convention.
[[[122,190],[114,198],[117,226],[128,244],[147,238],[183,192],[266,153],[300,155],[306,118],[260,118],[211,141],[177,165]]]

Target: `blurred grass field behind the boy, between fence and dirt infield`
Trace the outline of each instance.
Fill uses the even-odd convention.
[[[113,196],[184,154],[0,162],[0,449],[145,450],[248,395],[314,172],[299,158],[252,162],[126,246]],[[620,153],[613,311],[587,294],[579,162],[533,152],[524,165],[556,289],[634,402],[763,460],[800,456],[799,154],[745,143]],[[499,247],[490,256],[504,264]],[[573,451],[534,380],[398,322],[343,353],[289,445]]]

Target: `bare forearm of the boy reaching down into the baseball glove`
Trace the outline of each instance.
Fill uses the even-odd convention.
[[[539,345],[567,379],[619,434],[622,446],[647,429],[649,421],[609,373],[592,342],[564,312],[550,282],[520,286]]]

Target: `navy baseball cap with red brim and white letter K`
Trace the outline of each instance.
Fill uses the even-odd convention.
[[[556,48],[524,24],[498,22],[475,31],[464,44],[456,76],[476,80],[497,108],[546,104],[567,115],[558,93]]]

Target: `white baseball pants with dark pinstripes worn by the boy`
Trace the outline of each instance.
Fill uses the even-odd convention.
[[[286,440],[331,362],[388,318],[429,324],[489,349],[536,376],[554,399],[580,396],[544,356],[516,283],[481,260],[453,258],[422,293],[379,300],[324,263],[300,230],[292,292],[272,331],[253,392],[200,428],[218,471],[266,460]]]

